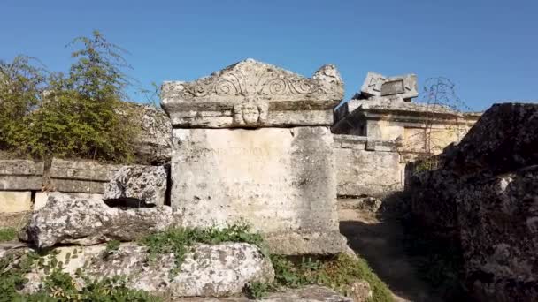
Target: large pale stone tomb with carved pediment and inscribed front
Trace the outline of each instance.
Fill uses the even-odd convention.
[[[328,129],[342,95],[332,65],[306,79],[251,59],[195,82],[165,83],[174,127],[171,203],[181,223],[244,221],[272,253],[346,251]]]

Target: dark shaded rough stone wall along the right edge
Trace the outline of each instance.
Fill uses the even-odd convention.
[[[538,105],[496,104],[407,187],[424,230],[461,245],[480,301],[538,300],[537,146]]]

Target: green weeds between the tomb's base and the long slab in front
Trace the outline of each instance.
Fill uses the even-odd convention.
[[[250,226],[245,223],[233,224],[226,228],[169,229],[151,234],[140,240],[141,245],[148,246],[148,260],[155,260],[161,254],[174,254],[176,265],[175,270],[171,272],[172,276],[177,274],[177,270],[185,260],[189,246],[195,244],[217,245],[224,242],[244,242],[257,245],[262,251],[265,251],[261,235],[251,232]]]

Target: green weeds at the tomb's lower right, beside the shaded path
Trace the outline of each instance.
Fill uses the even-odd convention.
[[[353,259],[346,254],[338,254],[327,260],[303,258],[292,261],[280,255],[271,256],[278,286],[296,288],[308,284],[320,284],[350,295],[350,285],[359,280],[370,283],[372,301],[393,301],[385,283],[380,281],[363,259]],[[261,288],[259,285],[257,289]]]

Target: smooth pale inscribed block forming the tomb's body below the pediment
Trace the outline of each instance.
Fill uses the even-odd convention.
[[[345,245],[327,127],[174,129],[173,140],[171,202],[184,226],[243,220],[266,237],[304,236],[310,245],[332,246],[319,253]]]

